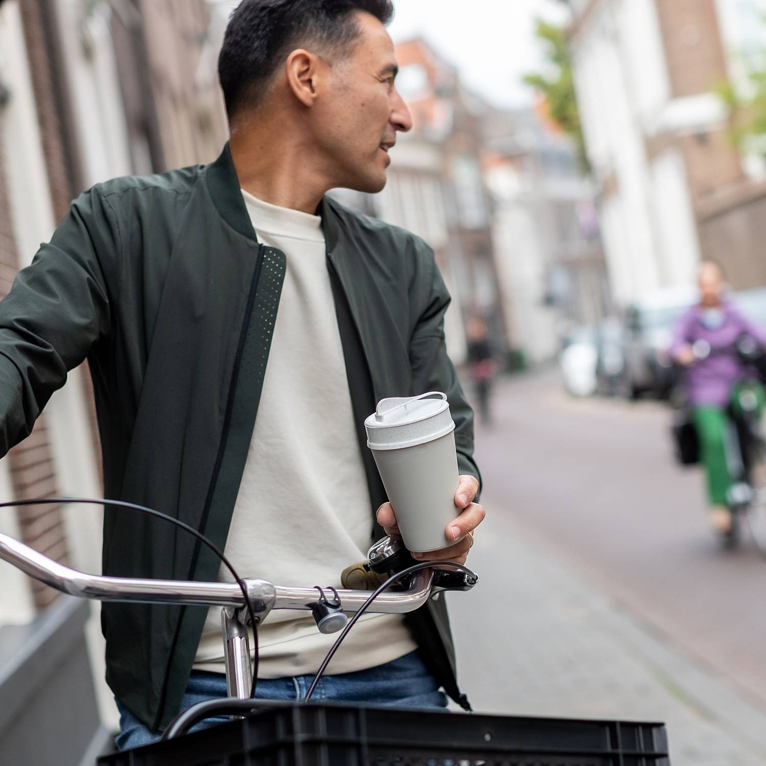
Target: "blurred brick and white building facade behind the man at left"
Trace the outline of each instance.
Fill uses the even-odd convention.
[[[84,189],[218,155],[224,23],[205,0],[0,0],[0,296]],[[101,495],[83,365],[0,460],[0,502]],[[101,519],[96,506],[2,508],[0,532],[98,572]],[[98,604],[4,562],[0,578],[0,763],[90,766],[117,725]]]

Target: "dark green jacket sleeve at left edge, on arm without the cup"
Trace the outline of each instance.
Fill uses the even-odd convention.
[[[108,198],[88,191],[0,301],[0,457],[28,437],[67,372],[109,334],[102,262],[115,263],[118,251]]]

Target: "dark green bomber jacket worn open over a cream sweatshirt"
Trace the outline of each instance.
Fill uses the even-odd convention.
[[[365,440],[375,402],[445,391],[460,473],[478,477],[473,415],[447,358],[450,296],[430,247],[330,198],[318,212],[372,542],[382,535],[375,509],[385,502]],[[284,270],[284,254],[257,241],[228,145],[211,165],[117,178],[85,192],[0,302],[0,454],[28,436],[67,371],[87,358],[105,496],[181,519],[223,548]],[[339,561],[339,573],[352,563]],[[209,581],[219,565],[175,525],[114,507],[105,514],[106,575]],[[205,614],[206,607],[103,606],[106,680],[149,728],[164,728],[180,708]],[[431,672],[466,705],[444,598],[407,620]]]

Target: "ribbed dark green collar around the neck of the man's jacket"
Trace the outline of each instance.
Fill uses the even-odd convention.
[[[226,221],[234,231],[242,234],[247,239],[258,241],[250,222],[250,214],[242,198],[237,169],[234,160],[231,159],[231,148],[226,142],[224,150],[215,162],[208,165],[207,183],[213,204],[218,209],[218,214]],[[338,220],[337,214],[327,197],[322,197],[316,214],[322,217],[322,228],[327,241],[327,252],[332,253],[338,244]]]

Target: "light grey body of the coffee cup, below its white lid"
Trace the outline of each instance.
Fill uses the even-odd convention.
[[[372,454],[408,550],[453,545],[446,532],[460,514],[455,505],[460,478],[454,432],[401,449],[373,448]]]

